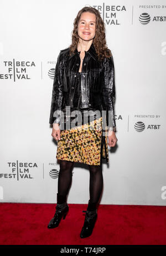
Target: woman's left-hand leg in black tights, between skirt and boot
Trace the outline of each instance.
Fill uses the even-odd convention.
[[[72,168],[74,162],[60,160],[60,170],[58,177],[58,194],[66,196],[72,180]]]

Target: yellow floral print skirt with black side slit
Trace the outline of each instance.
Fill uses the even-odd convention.
[[[90,165],[108,162],[107,130],[103,136],[102,117],[89,124],[61,130],[56,158]]]

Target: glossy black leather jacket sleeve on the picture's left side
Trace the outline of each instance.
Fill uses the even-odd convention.
[[[55,74],[54,74],[54,83],[51,99],[51,109],[50,109],[50,119],[49,123],[59,123],[61,109],[63,103],[63,61],[61,60],[61,52],[56,61]],[[56,111],[56,116],[54,112]]]

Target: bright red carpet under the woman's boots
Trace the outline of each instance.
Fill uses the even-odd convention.
[[[166,244],[166,207],[101,205],[92,235],[80,238],[87,204],[69,204],[59,227],[48,229],[56,204],[0,203],[1,245]]]

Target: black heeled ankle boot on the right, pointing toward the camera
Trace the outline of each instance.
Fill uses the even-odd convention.
[[[85,214],[84,226],[82,227],[82,230],[80,233],[81,238],[89,237],[92,234],[92,231],[94,229],[96,219],[97,219],[97,209],[95,209],[96,208],[95,205],[97,204],[89,203],[87,210],[82,210],[82,212],[85,212],[86,214]]]

